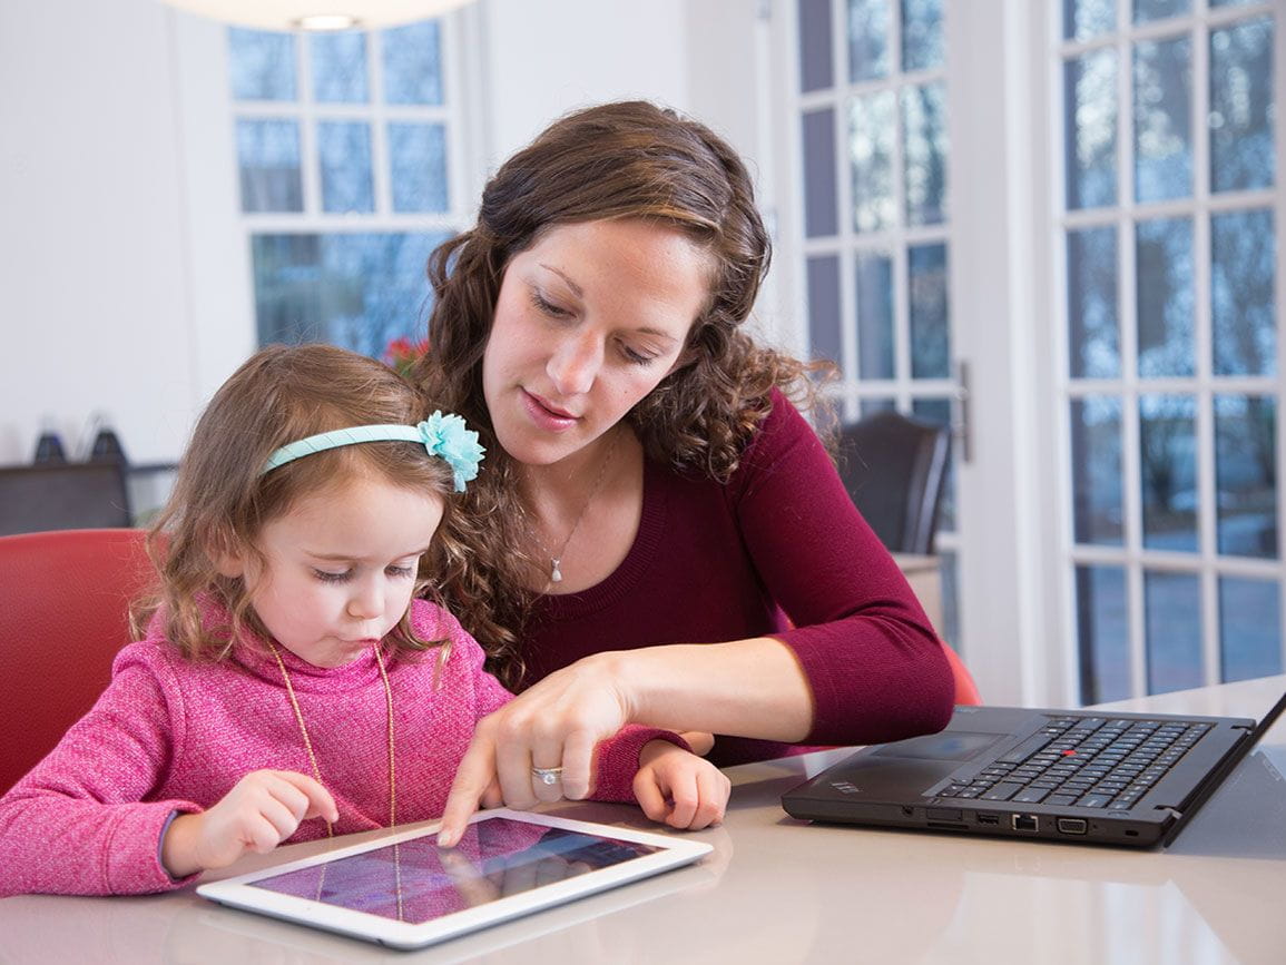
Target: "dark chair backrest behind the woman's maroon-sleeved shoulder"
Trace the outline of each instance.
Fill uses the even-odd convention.
[[[841,429],[840,478],[891,553],[934,551],[949,442],[945,427],[892,411]]]

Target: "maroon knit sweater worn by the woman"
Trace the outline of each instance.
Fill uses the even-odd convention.
[[[877,454],[874,457],[878,457]],[[781,393],[728,484],[647,461],[625,562],[598,586],[538,600],[526,682],[602,650],[772,635],[813,691],[806,744],[941,730],[952,671],[923,609]],[[720,765],[799,747],[720,736]]]

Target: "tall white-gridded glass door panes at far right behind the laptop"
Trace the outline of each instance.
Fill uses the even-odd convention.
[[[1080,696],[1280,673],[1280,8],[1061,12]]]

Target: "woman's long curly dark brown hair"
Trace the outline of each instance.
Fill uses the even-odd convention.
[[[603,104],[554,122],[496,172],[477,224],[430,258],[436,294],[419,374],[430,394],[463,415],[487,448],[482,484],[454,519],[444,592],[511,689],[521,684],[518,635],[538,562],[529,545],[512,460],[482,396],[482,353],[509,260],[558,225],[642,218],[676,229],[712,265],[710,297],[685,344],[692,362],[626,416],[651,459],[727,481],[782,388],[811,406],[818,366],[756,346],[741,330],[770,243],[736,152],[709,127],[644,102]]]

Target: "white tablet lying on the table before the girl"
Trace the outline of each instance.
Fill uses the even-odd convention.
[[[220,905],[394,948],[422,948],[647,878],[712,848],[552,815],[481,811],[454,848],[437,824],[211,881]]]

